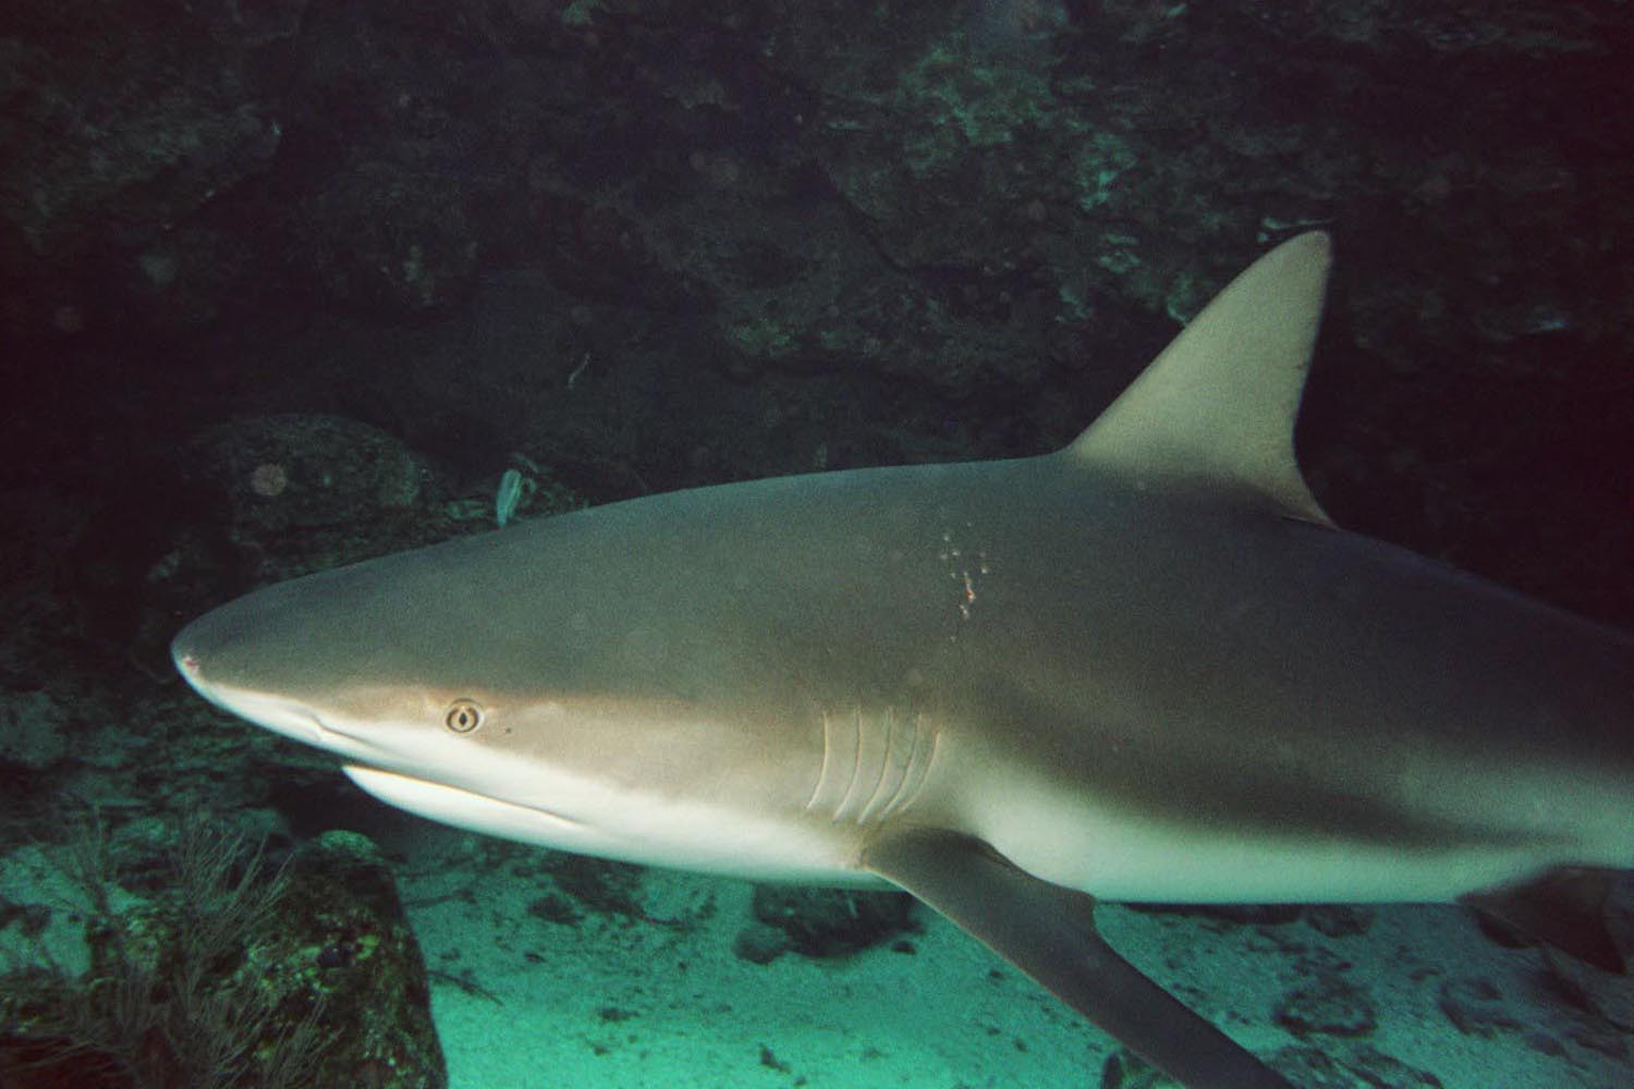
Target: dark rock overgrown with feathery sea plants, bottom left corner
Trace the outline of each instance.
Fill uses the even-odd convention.
[[[7,975],[8,1086],[448,1084],[420,949],[368,839],[330,833],[275,864],[208,823],[93,825],[65,857],[96,986]]]

